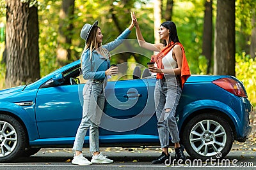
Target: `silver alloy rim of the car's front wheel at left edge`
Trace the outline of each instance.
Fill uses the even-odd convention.
[[[0,157],[6,157],[17,145],[17,132],[8,122],[0,121]]]

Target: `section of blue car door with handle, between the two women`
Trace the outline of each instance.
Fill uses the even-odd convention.
[[[106,103],[100,135],[134,134],[147,103],[147,81],[109,81],[104,93]]]

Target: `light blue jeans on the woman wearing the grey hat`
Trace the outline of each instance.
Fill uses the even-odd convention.
[[[90,152],[99,151],[99,124],[104,108],[104,84],[89,80],[83,89],[83,117],[72,150],[82,151],[84,137],[90,128]]]

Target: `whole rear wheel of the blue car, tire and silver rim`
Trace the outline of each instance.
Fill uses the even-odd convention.
[[[197,115],[184,126],[182,143],[193,159],[221,159],[230,152],[233,141],[230,125],[218,113]]]

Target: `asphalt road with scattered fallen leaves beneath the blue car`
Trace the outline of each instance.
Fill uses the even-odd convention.
[[[234,145],[227,157],[222,160],[209,160],[200,162],[188,157],[185,165],[171,164],[152,165],[152,159],[161,154],[159,148],[101,148],[104,155],[108,155],[115,162],[113,164],[93,164],[92,166],[75,166],[71,164],[73,153],[70,148],[65,149],[41,149],[31,157],[20,158],[13,163],[1,163],[0,169],[255,169],[256,167],[256,146],[241,148]],[[170,149],[172,158],[173,149]],[[84,149],[84,155],[90,160],[88,148]],[[186,154],[186,153],[185,153]],[[188,154],[186,154],[188,155]]]

